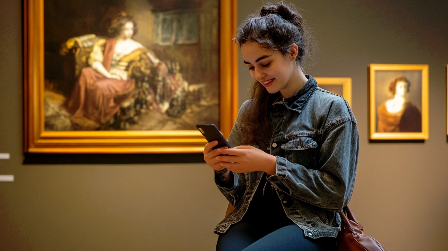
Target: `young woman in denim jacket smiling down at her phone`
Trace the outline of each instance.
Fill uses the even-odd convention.
[[[352,195],[358,129],[348,103],[302,72],[310,52],[302,16],[264,6],[237,29],[254,84],[229,136],[233,147],[204,160],[234,206],[221,221],[218,251],[329,251],[337,214]]]

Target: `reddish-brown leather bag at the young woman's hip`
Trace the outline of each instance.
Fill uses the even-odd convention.
[[[336,237],[339,251],[387,251],[377,240],[364,234],[349,205],[339,215],[342,219],[341,230]]]

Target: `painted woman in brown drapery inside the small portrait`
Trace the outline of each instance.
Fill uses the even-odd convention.
[[[389,84],[392,98],[378,108],[378,132],[421,132],[422,114],[407,97],[410,82],[405,77],[395,78]]]

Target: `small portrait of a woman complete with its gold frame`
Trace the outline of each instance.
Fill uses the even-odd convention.
[[[369,65],[370,139],[428,138],[428,70],[428,65]]]

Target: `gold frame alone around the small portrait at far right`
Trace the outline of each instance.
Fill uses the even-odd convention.
[[[422,131],[421,132],[377,132],[377,107],[376,104],[376,88],[377,83],[375,74],[378,71],[386,73],[387,71],[398,72],[420,72],[421,75],[421,114],[422,114]],[[425,140],[429,137],[429,66],[428,65],[395,65],[395,64],[370,64],[368,66],[369,81],[369,138],[372,140]],[[385,85],[383,83],[383,85]]]

